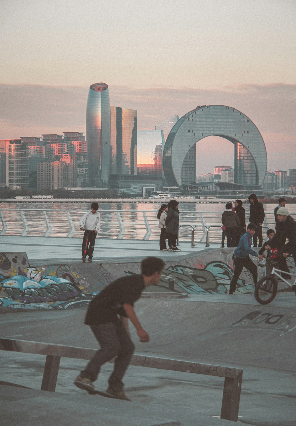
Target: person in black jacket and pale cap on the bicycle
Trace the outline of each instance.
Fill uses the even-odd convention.
[[[289,215],[286,207],[279,207],[276,219],[281,223],[280,231],[276,232],[270,245],[265,246],[265,248],[267,250],[275,247],[279,248],[277,268],[281,269],[281,271],[290,272],[287,267],[286,257],[292,254],[296,265],[296,222]],[[289,240],[287,244],[285,244],[286,239]],[[291,279],[290,275],[283,273],[282,276],[284,279]]]

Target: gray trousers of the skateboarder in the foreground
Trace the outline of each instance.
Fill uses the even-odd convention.
[[[113,391],[122,391],[124,386],[122,378],[131,361],[135,345],[123,324],[116,325],[113,322],[107,322],[105,324],[90,325],[90,328],[101,348],[85,369],[81,371],[81,377],[87,377],[94,382],[98,377],[101,366],[116,357],[114,370],[108,379],[108,383]]]

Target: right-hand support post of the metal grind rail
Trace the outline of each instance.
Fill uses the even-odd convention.
[[[241,397],[241,382],[243,379],[243,372],[238,373],[237,377],[225,377],[221,419],[238,421],[238,408],[239,400]]]

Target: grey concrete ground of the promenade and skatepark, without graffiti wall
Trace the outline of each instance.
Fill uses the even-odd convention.
[[[80,248],[80,239],[0,239],[1,252],[26,251],[31,265],[78,260]],[[180,248],[180,253],[167,253],[159,251],[158,242],[98,239],[94,256],[95,262],[139,262],[145,256],[185,260],[205,250],[205,245],[191,248],[190,243],[181,243]],[[131,330],[136,353],[243,368],[238,422],[294,426],[295,304],[293,293],[277,294],[266,306],[258,305],[252,294],[140,299],[136,312],[151,340],[139,343]],[[85,308],[8,312],[1,315],[1,337],[96,348],[92,333],[83,325],[84,314]],[[0,358],[3,426],[232,424],[219,418],[223,391],[219,377],[131,366],[125,376],[125,391],[132,399],[128,403],[89,396],[76,388],[73,380],[84,368],[83,360],[62,358],[52,393],[39,390],[44,356],[2,351]],[[102,368],[97,389],[106,389],[112,367],[107,363]]]

